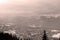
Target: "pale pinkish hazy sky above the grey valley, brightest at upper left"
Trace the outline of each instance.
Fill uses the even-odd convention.
[[[60,0],[0,0],[0,15],[59,15]]]

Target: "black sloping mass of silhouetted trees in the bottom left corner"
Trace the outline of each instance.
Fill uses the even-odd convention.
[[[13,36],[12,34],[0,32],[0,40],[19,40],[19,38],[17,38],[17,36]]]

